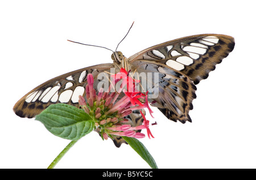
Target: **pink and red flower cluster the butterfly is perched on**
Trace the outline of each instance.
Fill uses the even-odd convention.
[[[86,100],[84,97],[79,96],[79,104],[84,111],[94,118],[95,126],[99,130],[102,139],[108,139],[108,136],[128,136],[133,138],[144,138],[145,135],[137,130],[146,129],[148,138],[154,136],[149,129],[150,123],[141,112],[144,119],[143,124],[140,126],[131,126],[127,124],[128,119],[124,117],[131,114],[133,110],[147,108],[152,116],[152,110],[148,105],[147,93],[146,95],[141,92],[135,92],[135,83],[139,83],[139,80],[132,79],[129,73],[121,68],[120,72],[112,75],[114,79],[112,85],[122,80],[121,87],[118,92],[103,92],[101,88],[96,95],[96,90],[93,88],[93,75],[88,74],[85,88]],[[113,88],[110,85],[110,88]],[[126,90],[125,89],[128,90]],[[118,96],[123,92],[125,96],[118,100]],[[144,103],[140,101],[144,99]],[[156,125],[156,123],[152,124]]]

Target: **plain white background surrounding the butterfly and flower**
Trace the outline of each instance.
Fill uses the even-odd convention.
[[[253,1],[1,1],[0,168],[47,168],[69,143],[13,112],[39,84],[82,67],[112,62],[110,51],[68,42],[119,46],[126,57],[200,33],[233,36],[236,46],[197,85],[192,123],[154,109],[155,139],[141,141],[159,168],[256,168],[255,5]],[[145,132],[145,131],[144,131]],[[79,140],[56,168],[150,168],[128,145],[96,132]]]

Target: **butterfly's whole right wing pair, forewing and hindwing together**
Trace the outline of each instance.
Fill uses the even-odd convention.
[[[137,72],[159,72],[159,96],[152,106],[172,121],[191,122],[188,115],[196,87],[234,49],[226,35],[195,35],[152,46],[128,61]],[[148,80],[151,82],[151,80]],[[151,101],[152,101],[151,100]]]

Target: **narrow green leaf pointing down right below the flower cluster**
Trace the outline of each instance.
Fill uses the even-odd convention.
[[[144,147],[144,145],[138,139],[126,136],[122,136],[122,138],[125,139],[131,148],[133,148],[139,154],[139,156],[141,156],[143,160],[146,161],[148,165],[150,165],[151,168],[158,168],[154,158],[150,155],[150,153],[147,151],[147,148]]]

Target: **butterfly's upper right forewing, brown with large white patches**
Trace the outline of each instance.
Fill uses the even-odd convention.
[[[206,79],[222,59],[234,49],[234,38],[226,35],[204,34],[178,38],[152,46],[132,55],[136,60],[163,63],[189,76],[195,84]]]

